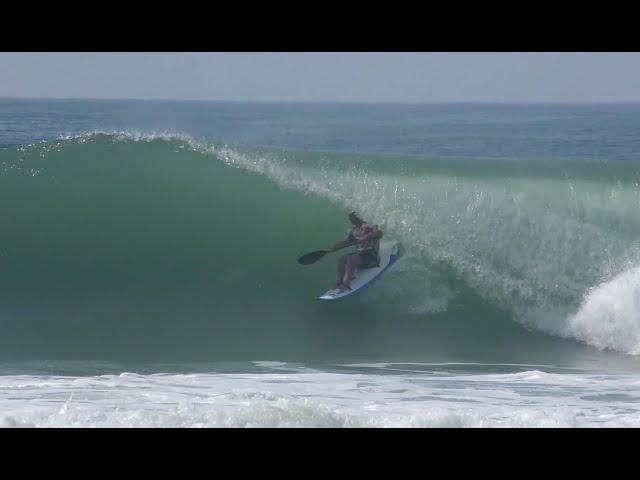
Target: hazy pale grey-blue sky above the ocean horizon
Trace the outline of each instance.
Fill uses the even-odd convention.
[[[0,97],[638,102],[640,53],[0,53]]]

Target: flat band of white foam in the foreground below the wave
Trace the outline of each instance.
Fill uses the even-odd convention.
[[[640,376],[4,376],[0,426],[637,427]]]

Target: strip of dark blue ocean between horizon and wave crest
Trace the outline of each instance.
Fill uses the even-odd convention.
[[[0,146],[92,131],[230,146],[535,160],[638,160],[640,104],[349,104],[0,99]]]

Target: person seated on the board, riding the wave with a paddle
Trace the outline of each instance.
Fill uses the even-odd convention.
[[[344,240],[331,247],[335,252],[341,248],[356,245],[356,251],[343,255],[338,260],[338,280],[331,288],[341,292],[349,289],[353,273],[357,268],[376,267],[380,263],[380,239],[382,231],[377,225],[370,225],[356,213],[349,214],[349,221],[353,225],[345,236]]]

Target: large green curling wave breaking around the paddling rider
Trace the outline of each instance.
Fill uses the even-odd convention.
[[[629,164],[239,150],[181,135],[10,147],[0,355],[513,360],[543,358],[554,337],[636,355],[639,183]],[[403,256],[352,302],[318,304],[336,256],[295,259],[340,239],[350,209]]]

